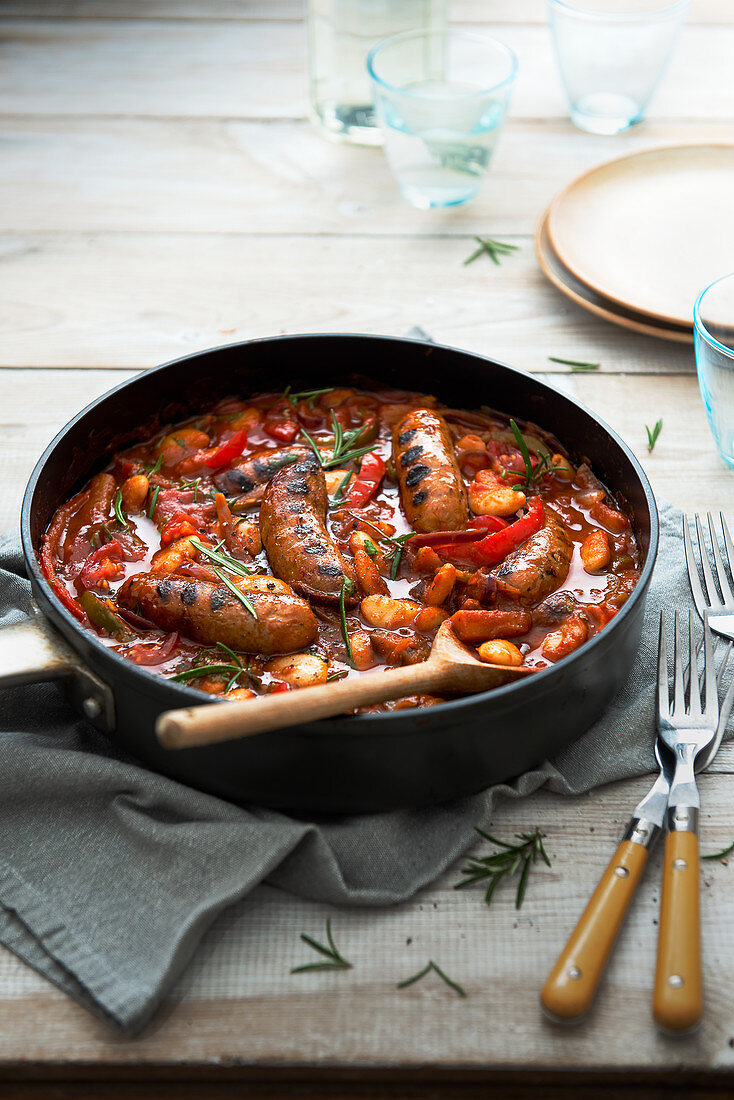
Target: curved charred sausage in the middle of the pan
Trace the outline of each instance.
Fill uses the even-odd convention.
[[[354,569],[326,529],[327,492],[315,455],[306,455],[270,481],[260,508],[260,534],[276,576],[322,604],[339,602],[344,578],[353,586],[346,602],[359,601]]]

